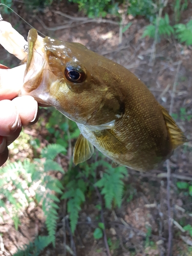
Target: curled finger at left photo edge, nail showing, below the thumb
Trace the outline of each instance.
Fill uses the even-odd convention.
[[[19,115],[10,100],[0,101],[0,110],[0,136],[10,136],[22,126]]]

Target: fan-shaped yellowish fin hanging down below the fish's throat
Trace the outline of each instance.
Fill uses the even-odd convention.
[[[79,135],[77,141],[75,143],[74,151],[73,151],[73,162],[75,165],[78,163],[82,163],[93,155],[94,153],[94,146],[82,136]]]

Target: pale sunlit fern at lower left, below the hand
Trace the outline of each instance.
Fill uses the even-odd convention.
[[[61,166],[53,159],[59,153],[65,153],[66,149],[60,145],[52,144],[42,150],[41,158],[30,162],[18,161],[7,164],[0,169],[0,206],[5,209],[7,214],[12,215],[15,229],[18,229],[20,213],[34,202],[36,206],[41,206],[46,217],[46,226],[49,234],[49,241],[55,244],[55,230],[58,219],[57,203],[60,200],[55,194],[62,194],[62,183],[50,176],[48,172],[56,171],[64,174]],[[36,184],[38,186],[35,188]],[[9,189],[8,189],[9,188]],[[33,190],[34,196],[31,197],[29,190]],[[7,209],[6,202],[12,205],[12,212]],[[1,216],[2,218],[3,215]]]

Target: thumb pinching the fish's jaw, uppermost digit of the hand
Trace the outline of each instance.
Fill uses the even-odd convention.
[[[26,65],[0,69],[0,100],[15,98],[23,87]]]

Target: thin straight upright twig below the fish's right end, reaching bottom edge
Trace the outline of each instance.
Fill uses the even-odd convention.
[[[172,249],[172,223],[170,217],[170,165],[169,159],[166,160],[167,165],[167,207],[168,207],[168,249],[167,256],[171,256]]]

